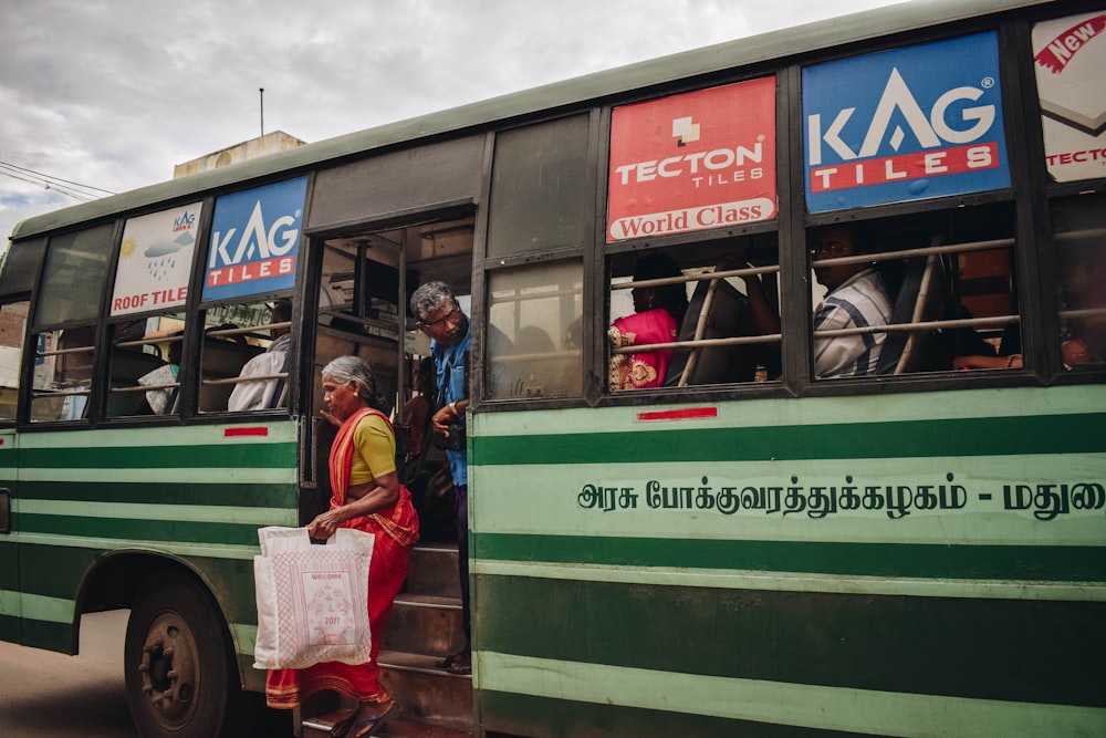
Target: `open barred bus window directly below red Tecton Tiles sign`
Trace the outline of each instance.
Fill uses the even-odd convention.
[[[778,378],[775,233],[706,241],[676,254],[611,259],[611,388]]]

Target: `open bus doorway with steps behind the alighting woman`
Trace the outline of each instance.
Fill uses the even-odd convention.
[[[322,417],[323,368],[337,356],[359,356],[372,367],[393,420],[397,471],[420,521],[407,584],[395,600],[378,657],[382,684],[404,706],[404,719],[465,735],[473,729],[471,677],[436,667],[463,645],[456,501],[445,453],[430,443],[434,362],[409,301],[419,284],[440,280],[470,312],[473,229],[472,217],[442,218],[313,241],[317,309],[303,406],[311,413],[312,436],[311,459],[304,461],[313,467],[305,477],[314,484],[306,485],[301,509],[305,524],[331,497],[328,455],[336,428]],[[305,728],[325,726],[348,707],[320,696],[304,704],[301,719]]]

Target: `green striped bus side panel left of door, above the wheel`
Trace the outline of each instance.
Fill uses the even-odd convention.
[[[210,588],[240,663],[252,663],[257,531],[296,524],[298,446],[293,423],[240,432],[24,434],[14,533],[22,642],[72,653],[79,606],[129,606],[147,578],[175,565]]]

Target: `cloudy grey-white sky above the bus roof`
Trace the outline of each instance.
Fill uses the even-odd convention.
[[[262,103],[317,142],[895,1],[0,0],[0,250],[260,135]]]

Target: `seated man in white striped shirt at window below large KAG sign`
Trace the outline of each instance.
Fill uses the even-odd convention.
[[[830,226],[818,233],[814,259],[837,259],[870,251],[865,230]],[[814,268],[826,295],[814,311],[814,330],[886,325],[891,300],[883,278],[869,263],[831,264]],[[761,333],[779,333],[780,318],[769,304],[759,279],[745,279],[749,303]],[[818,378],[866,376],[876,373],[886,333],[815,336],[814,374]]]

